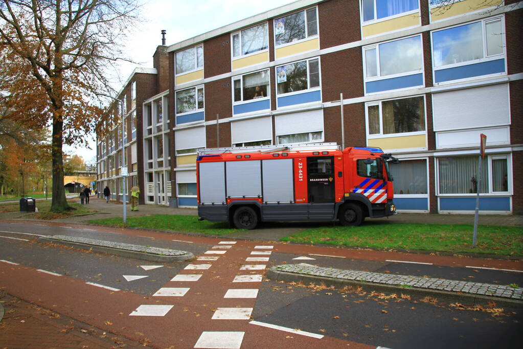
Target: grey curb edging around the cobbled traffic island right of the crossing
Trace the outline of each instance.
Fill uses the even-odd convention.
[[[445,299],[449,302],[458,302],[466,305],[466,306],[476,306],[476,305],[488,305],[488,303],[494,302],[497,306],[503,306],[503,307],[510,307],[510,308],[523,308],[523,301],[518,299],[511,299],[511,298],[502,298],[502,297],[496,297],[496,296],[487,296],[487,295],[481,295],[481,294],[471,294],[471,293],[462,293],[462,292],[451,292],[448,290],[441,290],[441,289],[431,289],[431,288],[420,288],[420,287],[401,287],[399,285],[393,285],[392,283],[378,283],[378,282],[368,282],[368,281],[362,281],[360,280],[349,280],[348,278],[340,278],[336,276],[325,276],[327,273],[323,273],[324,275],[318,275],[320,273],[300,273],[300,272],[289,272],[289,271],[282,271],[279,269],[285,269],[285,267],[293,267],[293,266],[300,266],[299,264],[286,264],[286,265],[277,265],[272,266],[266,273],[266,277],[270,278],[275,281],[285,281],[285,282],[301,282],[303,284],[309,284],[309,283],[323,283],[327,287],[333,286],[336,288],[343,288],[346,286],[357,286],[362,287],[367,290],[378,290],[380,292],[393,292],[393,293],[400,293],[400,294],[406,294],[411,296],[417,296],[417,297],[425,297],[425,296],[433,296],[437,297],[438,299]],[[308,265],[309,266],[309,265]],[[314,266],[312,266],[314,267]],[[389,278],[392,279],[394,276],[400,276],[400,275],[389,275],[389,274],[382,274],[382,273],[370,273],[370,272],[360,272],[360,271],[350,271],[350,270],[340,270],[340,269],[333,269],[333,268],[325,268],[325,267],[315,267],[317,269],[321,269],[323,271],[331,271],[332,274],[336,274],[337,272],[355,272],[355,273],[368,273],[368,274],[377,274],[380,276],[389,276]],[[429,278],[427,279],[429,280]],[[443,281],[453,282],[452,280],[445,280],[445,279],[439,279]],[[384,280],[385,281],[385,280]],[[390,282],[390,281],[389,281]],[[489,284],[483,284],[483,285],[489,285]],[[494,285],[498,286],[498,285]]]

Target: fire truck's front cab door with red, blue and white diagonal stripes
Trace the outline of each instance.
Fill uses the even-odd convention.
[[[353,193],[361,194],[371,204],[384,203],[387,200],[387,185],[383,173],[383,161],[380,158],[355,158]]]

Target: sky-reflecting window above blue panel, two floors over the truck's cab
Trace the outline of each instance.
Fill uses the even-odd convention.
[[[420,36],[384,42],[363,49],[367,78],[420,71],[423,68]]]

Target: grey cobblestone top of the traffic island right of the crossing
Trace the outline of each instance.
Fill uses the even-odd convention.
[[[462,292],[483,296],[511,298],[517,300],[523,299],[523,288],[514,288],[505,285],[448,280],[444,278],[434,277],[390,275],[384,273],[343,270],[300,264],[277,265],[276,270],[280,272],[293,274],[332,277],[340,280],[363,281],[393,286],[410,286],[450,292]]]

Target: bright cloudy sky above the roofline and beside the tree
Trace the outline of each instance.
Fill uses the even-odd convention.
[[[115,89],[121,88],[135,67],[153,67],[154,51],[162,44],[162,29],[167,31],[166,44],[172,45],[292,2],[295,0],[143,0],[142,22],[130,30],[123,49],[124,54],[138,64],[120,65],[121,81],[115,82]],[[88,136],[92,149],[65,146],[64,152],[82,156],[87,164],[95,164],[94,137],[94,134]]]

